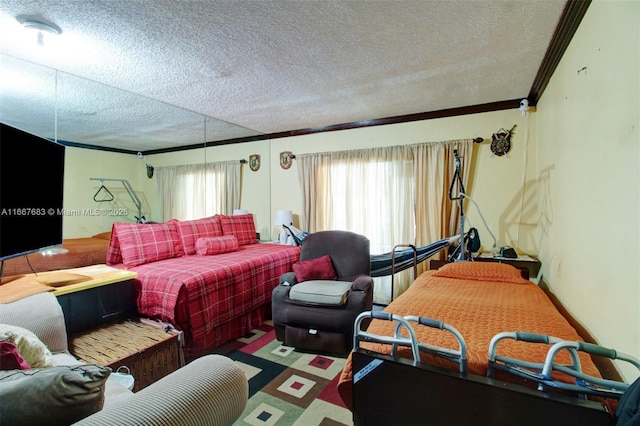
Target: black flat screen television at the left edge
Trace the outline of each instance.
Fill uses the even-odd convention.
[[[4,123],[0,126],[3,261],[62,244],[65,147]]]

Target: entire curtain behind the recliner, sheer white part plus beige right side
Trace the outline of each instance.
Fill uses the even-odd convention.
[[[457,232],[457,206],[448,199],[453,151],[463,157],[468,182],[473,141],[296,155],[302,188],[302,227],[344,229],[371,241],[371,253],[427,245]],[[404,247],[398,247],[402,249]],[[427,265],[419,265],[422,272]],[[375,278],[374,300],[391,300],[391,277]],[[413,281],[413,270],[394,276],[393,298]]]

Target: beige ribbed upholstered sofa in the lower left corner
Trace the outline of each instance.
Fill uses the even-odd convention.
[[[0,371],[3,424],[228,425],[240,416],[247,403],[246,376],[232,360],[221,355],[197,358],[136,393],[116,381],[110,369],[81,365],[68,351],[63,312],[51,293],[0,305],[0,325],[31,331],[46,345],[50,351],[47,356],[54,364],[41,369]],[[47,375],[55,379],[47,379]],[[59,397],[52,395],[53,391],[47,392],[49,388],[42,390],[42,380],[39,385],[33,382],[38,376],[55,383],[56,388],[65,382],[64,392],[71,395]],[[36,400],[37,404],[33,402]],[[91,400],[88,408],[86,404],[64,405],[87,400]],[[61,401],[65,401],[62,406]],[[77,417],[78,412],[87,410],[92,414]]]

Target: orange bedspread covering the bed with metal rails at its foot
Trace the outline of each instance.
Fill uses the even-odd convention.
[[[428,317],[455,327],[467,344],[469,373],[482,376],[487,372],[491,338],[498,333],[523,331],[582,340],[541,288],[523,280],[516,268],[505,264],[460,262],[438,271],[427,271],[384,311]],[[395,326],[395,322],[373,320],[367,332],[392,336]],[[458,349],[457,341],[447,332],[420,325],[414,325],[414,329],[421,342]],[[389,353],[388,345],[365,343],[362,347]],[[542,363],[548,349],[547,345],[506,340],[499,344],[498,354]],[[409,349],[400,349],[398,353],[411,358]],[[584,353],[580,353],[580,357],[583,371],[600,377],[591,358]],[[422,362],[457,368],[428,354],[422,354]],[[568,363],[569,358],[558,357],[557,362]],[[349,356],[338,383],[339,393],[348,407],[351,407],[351,380]]]

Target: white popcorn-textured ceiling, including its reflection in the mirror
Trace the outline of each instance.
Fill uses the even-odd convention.
[[[58,126],[67,132],[59,139],[134,151],[201,141],[157,136],[180,127],[201,134],[200,114],[217,119],[208,121],[205,137],[224,140],[521,99],[564,5],[2,0],[0,118],[12,121],[8,115],[22,109],[26,117],[33,105],[48,104],[35,98],[50,90],[22,89],[11,76],[13,66],[25,73],[22,61],[65,73],[55,94],[58,119],[68,120]],[[25,16],[53,22],[62,33],[45,38],[44,49],[27,46],[18,38],[24,30],[17,17]],[[76,83],[91,88],[76,93]],[[102,121],[111,103],[131,111],[128,118]],[[181,126],[191,119],[195,124]],[[145,136],[113,139],[126,131],[123,121]]]

